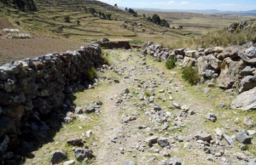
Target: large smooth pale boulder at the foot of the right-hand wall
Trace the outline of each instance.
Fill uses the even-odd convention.
[[[256,88],[239,94],[230,106],[232,109],[243,111],[256,109]]]

